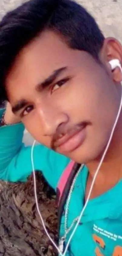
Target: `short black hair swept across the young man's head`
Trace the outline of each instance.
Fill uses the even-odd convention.
[[[5,78],[19,51],[45,29],[60,33],[69,47],[98,57],[104,36],[94,18],[71,0],[30,0],[7,13],[0,23],[0,101]]]

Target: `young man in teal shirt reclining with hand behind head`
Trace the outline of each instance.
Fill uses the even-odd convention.
[[[34,164],[54,189],[69,159],[85,163],[66,202],[68,214],[61,217],[65,244],[120,105],[122,74],[119,68],[111,71],[111,59],[122,62],[120,43],[105,39],[95,20],[70,0],[31,0],[0,24],[0,97],[16,116],[9,105],[2,117],[1,178],[25,181],[31,172],[31,147],[21,142],[23,124],[47,147],[35,147]],[[20,120],[23,124],[4,125]],[[122,255],[121,152],[122,114],[69,255]]]

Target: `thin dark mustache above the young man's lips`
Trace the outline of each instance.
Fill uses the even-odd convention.
[[[56,151],[58,147],[58,141],[61,140],[64,136],[67,138],[72,137],[74,134],[77,134],[82,128],[84,128],[87,124],[90,124],[88,121],[84,121],[78,124],[67,125],[61,124],[58,128],[56,133],[53,135],[51,140],[51,149]]]

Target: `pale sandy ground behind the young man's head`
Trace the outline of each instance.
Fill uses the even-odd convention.
[[[0,19],[25,0],[0,0]],[[122,0],[77,0],[96,18],[106,36],[114,36],[122,42]],[[33,139],[25,133],[24,141],[31,144]]]

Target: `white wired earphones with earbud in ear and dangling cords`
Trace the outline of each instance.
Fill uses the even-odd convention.
[[[121,67],[120,61],[119,61],[118,59],[112,59],[112,60],[110,60],[110,61],[109,61],[109,64],[110,64],[110,66],[111,66],[111,70],[112,70],[112,71],[113,71],[116,67],[119,67],[120,70],[121,70],[121,72],[122,72],[122,67]],[[54,247],[57,249],[58,253],[59,253],[61,256],[65,256],[65,254],[66,254],[66,252],[67,252],[67,250],[68,250],[69,243],[71,242],[71,239],[72,239],[72,237],[74,236],[74,233],[75,233],[75,231],[76,231],[76,229],[77,229],[77,227],[78,227],[78,225],[79,225],[79,222],[81,221],[81,218],[82,218],[82,216],[83,216],[83,213],[84,213],[84,211],[85,211],[85,209],[86,209],[86,207],[87,207],[87,204],[88,204],[88,201],[89,201],[89,198],[90,198],[90,196],[91,196],[91,192],[92,192],[92,189],[93,189],[93,186],[94,186],[95,179],[96,179],[97,174],[98,174],[98,172],[99,172],[99,170],[100,170],[100,168],[101,168],[101,165],[102,165],[102,163],[103,163],[103,160],[104,160],[104,157],[105,157],[105,155],[106,155],[106,153],[107,153],[107,150],[108,150],[108,148],[109,148],[109,146],[110,146],[110,142],[111,142],[111,139],[112,139],[112,137],[113,137],[114,130],[115,130],[115,128],[116,128],[117,121],[118,121],[119,116],[120,116],[121,108],[122,108],[122,93],[121,93],[121,100],[120,100],[119,110],[118,110],[118,113],[117,113],[117,116],[116,116],[116,120],[115,120],[114,125],[113,125],[113,128],[112,128],[112,131],[111,131],[111,134],[110,134],[110,137],[109,137],[107,146],[106,146],[106,148],[105,148],[105,150],[104,150],[104,153],[103,153],[103,155],[102,155],[102,157],[101,157],[100,163],[99,163],[99,165],[98,165],[98,167],[97,167],[97,170],[96,170],[96,172],[95,172],[95,175],[94,175],[94,178],[93,178],[93,181],[92,181],[92,183],[91,183],[91,187],[90,187],[90,190],[89,190],[89,193],[88,193],[87,200],[86,200],[86,202],[85,202],[85,204],[84,204],[84,207],[83,207],[83,209],[82,209],[82,211],[81,211],[81,214],[80,214],[80,216],[79,216],[79,218],[78,218],[78,221],[77,221],[77,223],[76,223],[76,225],[75,225],[75,227],[74,227],[74,230],[73,230],[72,233],[71,233],[71,236],[70,236],[70,238],[69,238],[69,240],[68,240],[68,242],[67,242],[67,245],[66,245],[66,247],[65,247],[65,250],[64,250],[64,253],[63,253],[63,254],[60,252],[58,246],[54,243],[54,241],[52,240],[51,236],[48,234],[48,231],[47,231],[47,229],[46,229],[46,227],[45,227],[45,223],[44,223],[44,221],[43,221],[43,218],[42,218],[41,213],[40,213],[40,210],[39,210],[38,198],[37,198],[37,191],[36,191],[35,168],[34,168],[34,160],[33,160],[33,151],[34,151],[34,146],[35,146],[35,142],[36,142],[36,141],[34,141],[34,143],[33,143],[33,145],[32,145],[32,149],[31,149],[31,163],[32,163],[33,176],[34,176],[34,192],[35,192],[35,201],[36,201],[37,211],[38,211],[38,214],[39,214],[39,216],[40,216],[40,218],[41,218],[42,225],[43,225],[43,227],[44,227],[45,233],[47,234],[48,238],[51,240],[51,242],[53,243]]]

